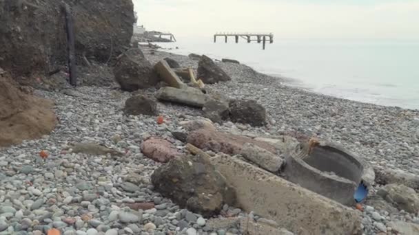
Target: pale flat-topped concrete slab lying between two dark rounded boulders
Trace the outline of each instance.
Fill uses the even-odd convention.
[[[163,87],[157,91],[156,98],[200,108],[202,108],[209,99],[200,89],[193,87],[185,87],[184,89]]]

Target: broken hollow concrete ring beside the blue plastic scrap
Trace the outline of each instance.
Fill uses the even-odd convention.
[[[335,144],[318,142],[309,147],[311,143],[303,143],[303,150],[287,156],[282,171],[285,179],[344,205],[354,205],[363,170],[358,157]]]

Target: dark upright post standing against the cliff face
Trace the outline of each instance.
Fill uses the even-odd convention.
[[[70,5],[64,3],[65,11],[65,30],[67,31],[67,49],[68,49],[68,74],[70,74],[70,85],[77,85],[76,78],[76,48],[74,46],[74,28]]]

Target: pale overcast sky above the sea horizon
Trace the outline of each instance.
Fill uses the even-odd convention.
[[[133,0],[139,24],[176,36],[419,38],[419,0]]]

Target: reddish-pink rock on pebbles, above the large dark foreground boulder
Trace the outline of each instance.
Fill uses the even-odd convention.
[[[172,143],[161,138],[147,139],[141,145],[141,152],[148,158],[163,163],[181,155]]]

